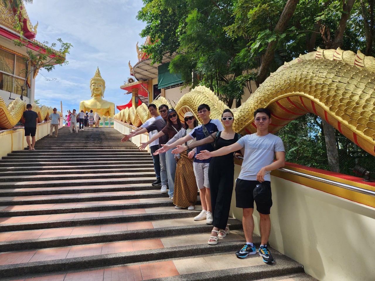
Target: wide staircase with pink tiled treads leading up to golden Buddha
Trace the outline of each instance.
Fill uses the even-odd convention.
[[[273,265],[237,259],[245,240],[233,218],[208,245],[212,226],[193,221],[200,205],[174,209],[151,185],[150,154],[121,138],[64,127],[0,160],[0,280],[314,280],[273,249]]]

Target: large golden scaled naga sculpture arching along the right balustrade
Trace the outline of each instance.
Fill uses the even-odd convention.
[[[212,91],[198,86],[181,97],[175,109],[182,120],[186,111],[197,115],[196,109],[202,103],[211,107],[211,118],[220,118],[223,109],[228,108]],[[318,48],[300,55],[271,73],[242,106],[234,109],[234,130],[244,135],[256,132],[253,112],[266,107],[272,112],[273,133],[310,112],[375,156],[374,57],[340,48]],[[127,119],[125,112],[115,119],[139,126],[144,115],[136,116],[138,108],[129,110],[129,115],[130,111],[135,115],[133,119]]]

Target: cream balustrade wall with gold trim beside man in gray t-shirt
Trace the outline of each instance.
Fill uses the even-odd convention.
[[[236,164],[235,179],[240,170],[241,166]],[[305,172],[312,174],[308,170]],[[321,172],[321,177],[330,178],[324,175],[326,171]],[[375,191],[375,184],[365,185],[361,179],[351,176],[345,178],[345,181],[336,179]],[[374,280],[374,197],[281,171],[272,172],[271,182],[271,247],[302,263],[306,273],[321,281]],[[234,190],[229,215],[242,220],[242,209],[236,208]],[[260,235],[257,211],[253,217],[254,232]]]

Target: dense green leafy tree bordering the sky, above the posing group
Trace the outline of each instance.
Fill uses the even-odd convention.
[[[243,38],[229,38],[223,30],[233,22],[234,1],[143,2],[137,18],[146,22],[140,35],[150,35],[153,40],[152,45],[142,46],[153,63],[160,63],[166,52],[175,52],[169,70],[180,73],[185,86],[205,85],[228,106],[232,106],[234,99],[239,106],[246,81],[237,77],[251,69],[255,60],[236,59],[246,42]],[[199,81],[192,79],[193,70]]]

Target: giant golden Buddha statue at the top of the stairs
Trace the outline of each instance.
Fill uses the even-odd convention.
[[[115,114],[115,104],[102,99],[104,97],[105,81],[100,74],[99,67],[96,69],[94,77],[90,80],[90,89],[92,99],[80,102],[80,111],[90,112],[90,109],[92,109],[99,116],[113,117]]]

